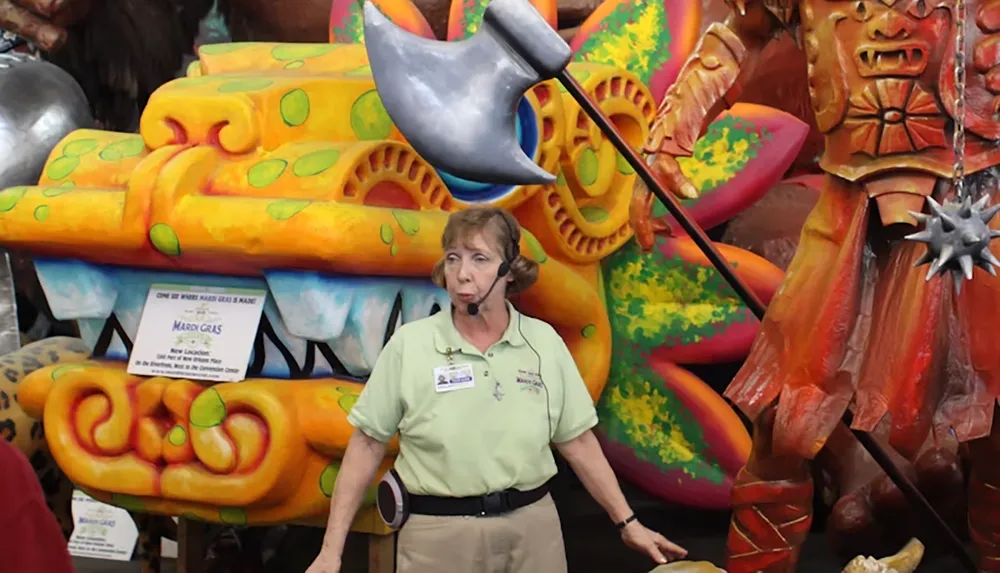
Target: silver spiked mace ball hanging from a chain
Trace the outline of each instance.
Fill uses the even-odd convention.
[[[1000,231],[990,229],[989,222],[1000,212],[1000,204],[986,208],[988,201],[989,196],[984,195],[975,203],[966,197],[961,202],[945,200],[942,205],[928,197],[930,215],[910,211],[914,219],[924,224],[924,230],[906,238],[927,245],[927,252],[914,265],[930,263],[926,280],[951,271],[955,289],[959,291],[963,276],[972,280],[973,265],[996,276],[993,267],[1000,267],[1000,260],[990,252],[990,241],[1000,237]]]

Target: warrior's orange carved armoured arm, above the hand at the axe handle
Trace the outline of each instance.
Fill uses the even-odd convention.
[[[689,156],[705,128],[739,98],[761,51],[797,17],[797,0],[727,0],[731,13],[705,31],[657,110],[646,153]]]

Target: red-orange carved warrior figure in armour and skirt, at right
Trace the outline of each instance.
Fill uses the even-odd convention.
[[[966,0],[966,189],[1000,201],[1000,2]],[[730,0],[658,112],[645,151],[678,195],[676,156],[734,102],[781,31],[807,56],[826,147],[825,188],[785,283],[726,390],[755,421],[733,491],[731,573],[793,571],[812,519],[812,460],[853,411],[853,427],[910,457],[949,432],[970,446],[969,527],[982,571],[1000,572],[1000,280],[960,291],[914,268],[924,244],[910,215],[955,197],[955,0]],[[637,187],[633,228],[651,246],[652,203]],[[992,223],[995,228],[997,221]]]

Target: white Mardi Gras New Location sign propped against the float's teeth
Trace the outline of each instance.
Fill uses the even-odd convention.
[[[128,373],[243,380],[266,297],[264,289],[150,286]]]

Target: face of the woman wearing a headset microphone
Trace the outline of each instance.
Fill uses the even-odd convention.
[[[478,303],[496,280],[503,257],[495,243],[496,241],[487,240],[481,232],[471,233],[445,251],[445,286],[451,302],[459,312],[467,312],[469,303]],[[480,310],[504,304],[504,293],[509,280],[508,274],[497,281],[488,298],[479,303]]]

